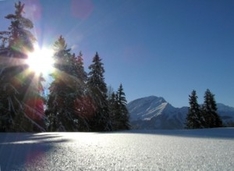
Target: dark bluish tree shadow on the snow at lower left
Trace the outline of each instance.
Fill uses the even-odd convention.
[[[0,171],[23,170],[27,164],[40,162],[55,143],[68,141],[60,137],[56,133],[0,133]]]

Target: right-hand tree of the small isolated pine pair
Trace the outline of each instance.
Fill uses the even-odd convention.
[[[222,120],[217,113],[217,105],[214,94],[212,94],[209,89],[206,90],[204,95],[202,113],[205,121],[204,126],[206,128],[222,127]]]

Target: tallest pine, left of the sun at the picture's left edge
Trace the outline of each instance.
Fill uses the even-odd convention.
[[[27,70],[27,54],[33,51],[33,23],[23,17],[24,4],[15,3],[8,31],[0,32],[0,124],[2,131],[44,131],[42,77]]]

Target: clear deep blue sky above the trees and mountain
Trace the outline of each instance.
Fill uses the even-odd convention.
[[[15,0],[0,1],[0,30]],[[128,102],[149,95],[175,107],[207,88],[234,106],[233,0],[21,0],[42,46],[62,35],[82,51],[86,71],[96,51],[105,82],[123,84]]]

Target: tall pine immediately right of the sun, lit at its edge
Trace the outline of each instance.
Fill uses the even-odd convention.
[[[55,73],[49,87],[46,115],[49,131],[77,131],[78,116],[75,112],[75,99],[80,82],[77,80],[76,63],[71,49],[67,49],[65,39],[60,36],[54,44]]]

